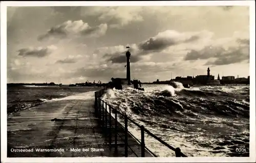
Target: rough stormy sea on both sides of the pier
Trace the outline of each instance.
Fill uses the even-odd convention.
[[[187,156],[249,156],[249,86],[197,86],[142,84],[111,89],[103,100]],[[100,87],[14,86],[7,88],[8,116],[56,99]],[[120,122],[121,117],[118,117]],[[140,129],[129,123],[140,139]],[[175,153],[150,135],[145,145],[160,157]],[[240,150],[238,150],[240,149]],[[241,150],[242,149],[242,150]]]

